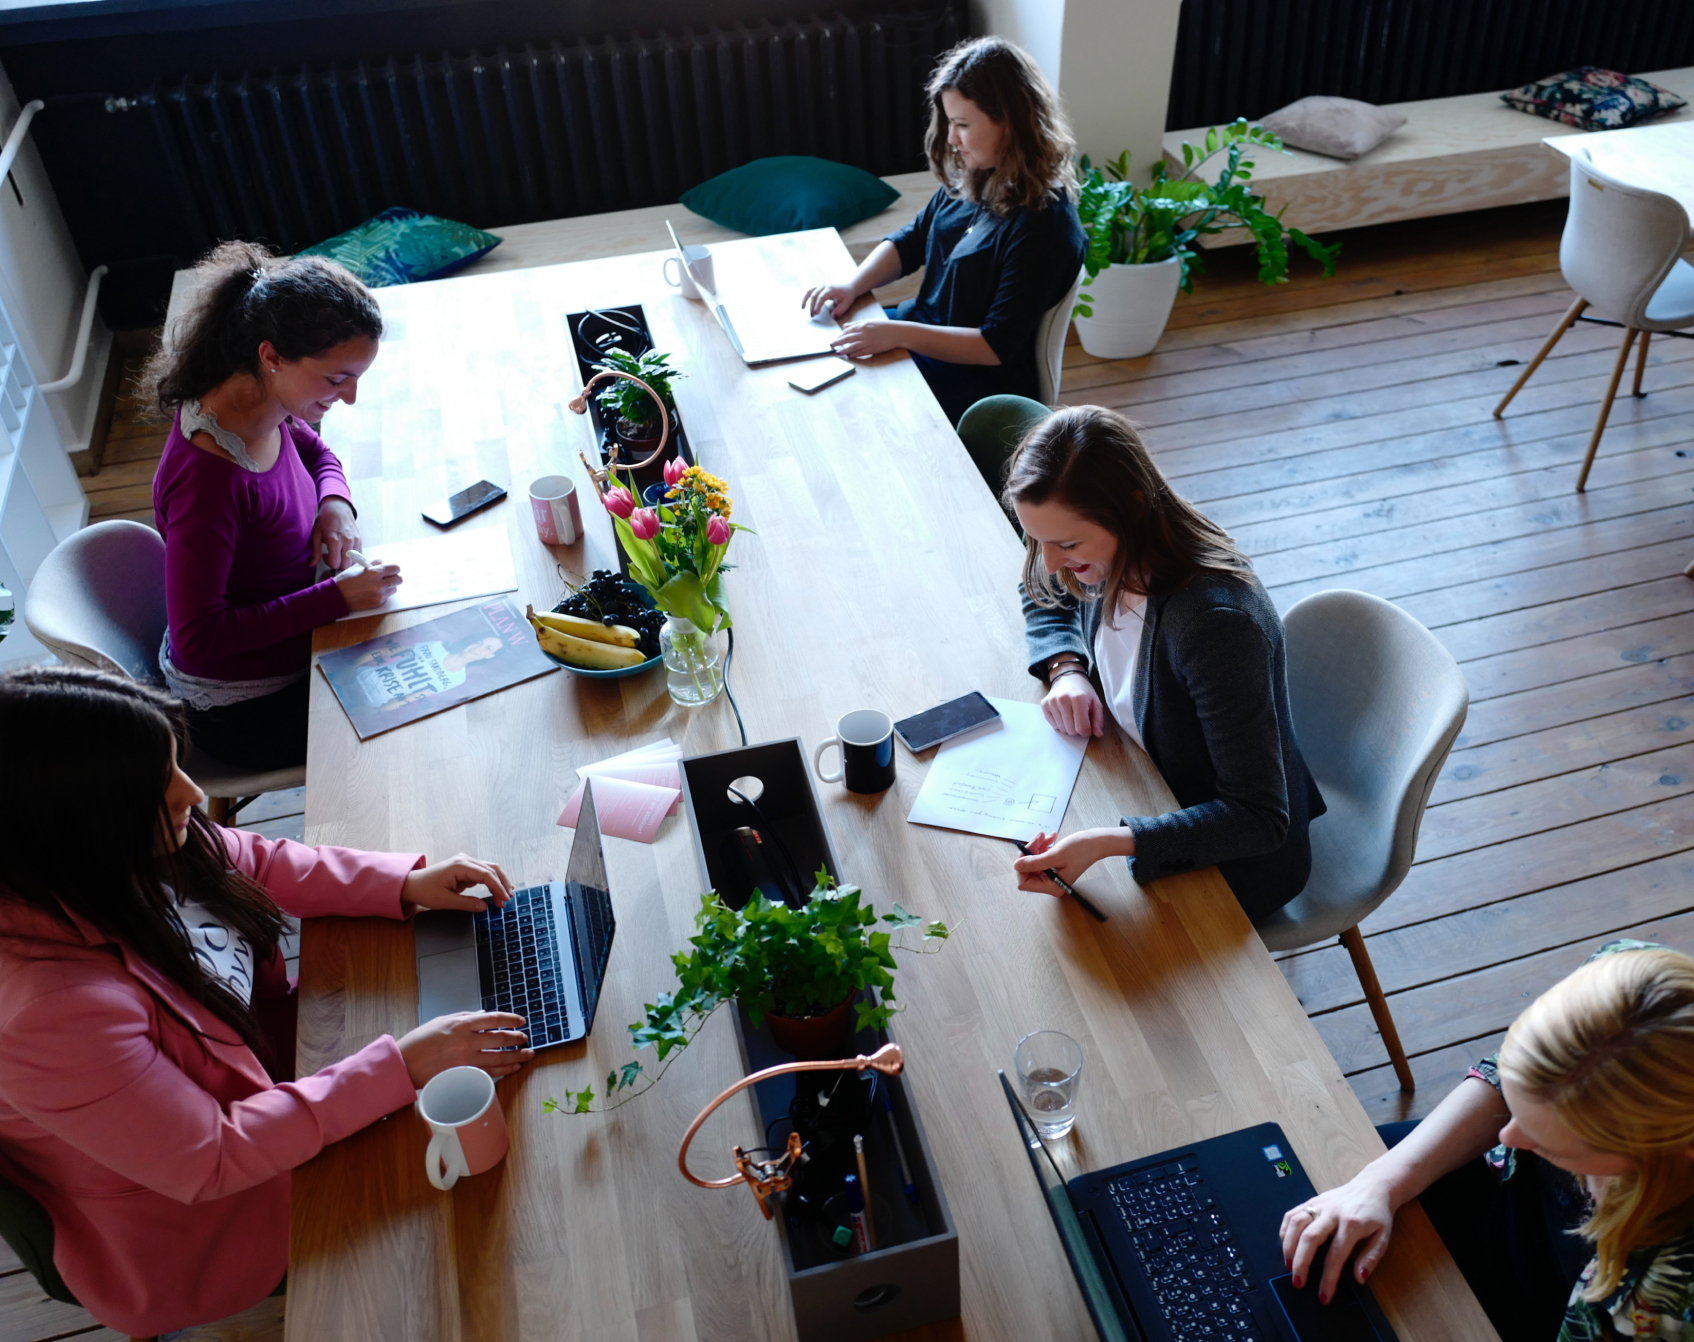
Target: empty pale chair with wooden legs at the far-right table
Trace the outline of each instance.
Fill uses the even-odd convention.
[[[1655,330],[1682,330],[1694,325],[1694,266],[1682,259],[1689,244],[1689,217],[1682,205],[1660,191],[1630,186],[1608,176],[1589,159],[1587,149],[1570,156],[1570,212],[1565,215],[1565,232],[1558,242],[1558,269],[1565,283],[1575,290],[1570,305],[1553,334],[1547,337],[1530,366],[1518,374],[1511,391],[1494,407],[1499,419],[1530,374],[1542,366],[1558,337],[1575,324],[1587,308],[1596,317],[1623,327],[1623,344],[1618,363],[1611,369],[1606,398],[1599,405],[1594,437],[1589,439],[1582,471],[1577,474],[1577,493],[1587,485],[1599,435],[1606,432],[1606,419],[1630,363],[1630,346],[1641,337],[1635,356],[1635,390],[1641,395],[1641,373],[1647,369],[1647,342]]]

